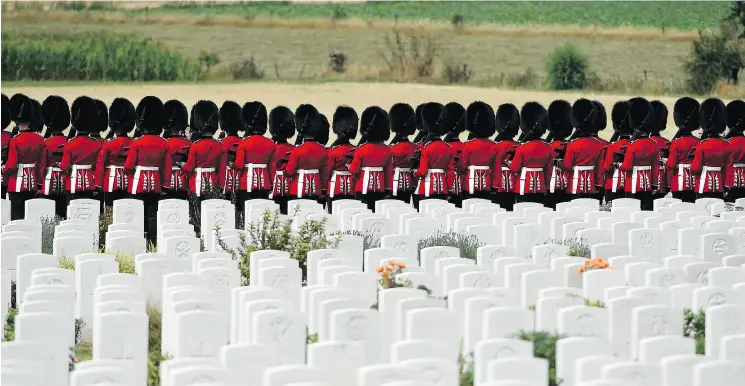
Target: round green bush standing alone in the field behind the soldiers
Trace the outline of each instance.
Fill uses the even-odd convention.
[[[554,50],[546,64],[548,85],[552,90],[578,90],[587,84],[587,56],[572,44]]]

